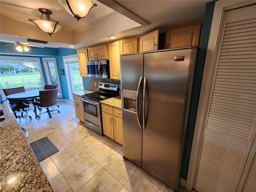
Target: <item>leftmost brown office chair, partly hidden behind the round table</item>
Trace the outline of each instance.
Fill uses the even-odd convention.
[[[8,96],[8,95],[14,94],[14,93],[25,92],[25,88],[23,86],[16,87],[16,88],[2,89],[2,90],[5,94],[5,96]],[[9,101],[10,108],[12,109],[12,112],[14,113],[14,116],[16,119],[25,117],[25,116],[28,116],[30,119],[32,118],[31,116],[26,115],[28,112],[28,109],[26,109],[26,108],[29,108],[28,100],[8,99],[8,101]],[[16,112],[20,112],[20,111],[21,111],[21,114],[17,116]],[[23,115],[23,112],[26,112],[26,114]]]

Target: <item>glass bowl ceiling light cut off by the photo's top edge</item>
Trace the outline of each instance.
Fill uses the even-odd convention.
[[[86,17],[92,7],[97,6],[90,0],[58,0],[58,2],[78,21]]]

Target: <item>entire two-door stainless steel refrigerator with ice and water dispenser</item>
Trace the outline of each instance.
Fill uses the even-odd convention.
[[[180,183],[196,47],[120,56],[124,158]]]

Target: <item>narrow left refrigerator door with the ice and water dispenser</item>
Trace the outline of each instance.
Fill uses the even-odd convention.
[[[141,119],[142,88],[138,92],[137,89],[140,78],[143,76],[143,58],[143,54],[120,56],[124,156],[140,167],[142,161],[142,129],[139,126],[136,112],[138,112]],[[128,98],[126,96],[126,100],[124,100],[125,96],[123,94],[130,93],[129,90],[131,93],[138,93],[138,100],[136,100],[138,111],[136,112],[124,108],[124,102],[130,97],[127,95]],[[132,99],[136,99],[136,97]]]

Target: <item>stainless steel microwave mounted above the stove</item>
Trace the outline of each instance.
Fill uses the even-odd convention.
[[[87,61],[88,77],[110,78],[108,60]]]

